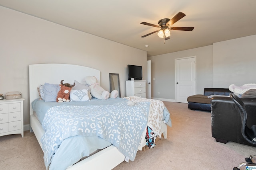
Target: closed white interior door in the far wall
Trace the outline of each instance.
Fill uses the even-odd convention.
[[[176,60],[176,102],[188,103],[195,94],[195,57]]]

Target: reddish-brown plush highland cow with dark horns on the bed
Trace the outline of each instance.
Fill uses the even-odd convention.
[[[60,91],[58,92],[56,102],[69,102],[70,91],[76,85],[75,83],[72,86],[69,83],[63,84],[63,81],[60,81]]]

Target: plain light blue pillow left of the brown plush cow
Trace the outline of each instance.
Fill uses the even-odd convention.
[[[44,83],[44,102],[56,102],[60,84]]]

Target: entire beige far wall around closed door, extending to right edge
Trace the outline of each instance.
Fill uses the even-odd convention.
[[[196,56],[196,94],[204,88],[256,83],[256,35],[206,47],[148,57],[152,63],[152,98],[175,102],[175,59]],[[155,78],[156,80],[153,80]],[[160,92],[158,95],[157,92]]]

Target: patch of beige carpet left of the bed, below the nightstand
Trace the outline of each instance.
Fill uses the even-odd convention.
[[[0,169],[2,170],[45,170],[44,153],[34,133],[0,137]]]

